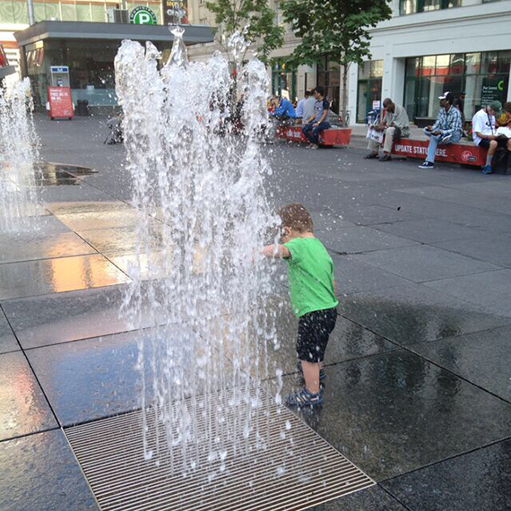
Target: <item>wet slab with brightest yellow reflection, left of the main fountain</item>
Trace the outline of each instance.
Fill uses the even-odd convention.
[[[129,280],[100,254],[0,264],[0,300],[100,288]]]

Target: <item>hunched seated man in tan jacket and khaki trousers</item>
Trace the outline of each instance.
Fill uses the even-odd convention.
[[[391,160],[390,153],[392,152],[392,144],[394,140],[397,142],[403,137],[410,136],[410,120],[406,110],[396,105],[390,98],[385,98],[383,102],[383,109],[385,115],[382,122],[378,126],[374,126],[373,129],[376,131],[385,131],[385,142],[383,143],[384,153],[379,159],[380,161]],[[364,156],[366,160],[371,160],[378,157],[378,150],[380,143],[374,140],[369,140],[368,149],[371,150],[367,156]]]

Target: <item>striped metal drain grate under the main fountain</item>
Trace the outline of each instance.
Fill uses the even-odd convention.
[[[375,484],[286,408],[261,413],[265,448],[233,457],[224,472],[205,461],[205,446],[200,469],[173,470],[180,450],[167,454],[164,433],[158,466],[144,461],[141,411],[65,435],[103,511],[299,511]]]

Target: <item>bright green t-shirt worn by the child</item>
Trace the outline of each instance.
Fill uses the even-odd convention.
[[[284,244],[290,251],[288,276],[293,314],[336,307],[333,293],[333,262],[317,238],[294,238]]]

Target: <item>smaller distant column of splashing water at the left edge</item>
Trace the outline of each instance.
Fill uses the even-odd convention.
[[[35,162],[39,138],[31,115],[30,81],[0,82],[0,231],[37,230]]]

